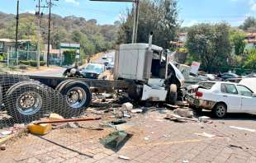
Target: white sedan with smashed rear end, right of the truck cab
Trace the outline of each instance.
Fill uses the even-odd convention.
[[[187,87],[187,102],[195,109],[226,113],[256,113],[256,95],[247,86],[226,81],[202,81]]]

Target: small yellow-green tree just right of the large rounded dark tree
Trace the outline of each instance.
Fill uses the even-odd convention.
[[[230,40],[235,49],[235,55],[242,55],[244,54],[245,48],[245,34],[239,30],[231,30],[230,31]]]

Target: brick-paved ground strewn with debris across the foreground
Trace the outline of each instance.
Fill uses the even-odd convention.
[[[100,143],[116,131],[106,125],[115,119],[113,114],[104,112],[88,109],[86,116],[102,120],[79,123],[79,128],[57,128],[42,137],[29,133],[0,151],[0,162],[256,162],[254,115],[178,123],[164,119],[171,110],[149,109],[116,125],[132,137],[119,151],[112,151]],[[201,115],[210,113],[195,119]]]

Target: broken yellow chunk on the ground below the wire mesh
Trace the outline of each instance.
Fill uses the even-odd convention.
[[[29,124],[28,129],[30,133],[36,134],[36,135],[45,135],[46,133],[49,133],[52,129],[52,125],[50,123],[45,124]]]

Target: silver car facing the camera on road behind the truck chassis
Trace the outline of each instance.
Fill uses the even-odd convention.
[[[85,78],[97,79],[105,71],[105,67],[100,63],[88,63],[80,72]]]

